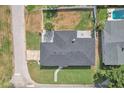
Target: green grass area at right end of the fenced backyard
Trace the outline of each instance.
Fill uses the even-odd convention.
[[[92,17],[90,11],[81,12],[81,19],[78,25],[75,27],[75,30],[88,30],[92,29]]]

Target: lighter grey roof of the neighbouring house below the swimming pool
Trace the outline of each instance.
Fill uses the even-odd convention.
[[[102,59],[105,65],[124,64],[124,21],[107,21],[102,32]]]

